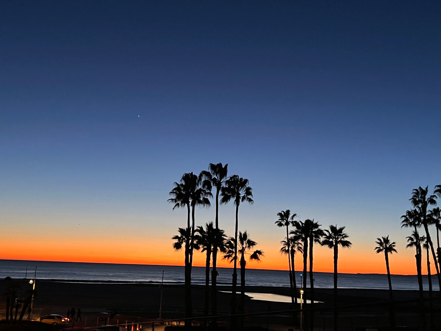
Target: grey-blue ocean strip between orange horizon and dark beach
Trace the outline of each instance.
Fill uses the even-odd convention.
[[[87,282],[142,282],[160,283],[164,271],[164,284],[184,282],[184,267],[147,264],[113,264],[81,262],[49,262],[0,260],[0,278],[24,278],[27,267],[27,278],[34,278],[37,267],[37,279],[76,280]],[[219,285],[230,285],[232,268],[218,268]],[[300,286],[302,272],[295,271],[297,285]],[[240,273],[238,270],[238,275]],[[392,275],[394,290],[418,290],[416,275]],[[333,273],[314,272],[314,286],[333,288]],[[193,284],[205,284],[205,267],[193,267]],[[250,286],[289,286],[288,271],[247,269],[246,284]],[[309,273],[307,275],[309,287]],[[434,290],[439,290],[436,275],[432,276]],[[423,276],[424,289],[428,290],[427,276]],[[383,274],[339,274],[339,288],[389,289],[387,275]]]

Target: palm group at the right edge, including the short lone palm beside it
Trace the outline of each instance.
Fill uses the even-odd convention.
[[[429,194],[429,186],[426,188],[414,188],[412,190],[412,196],[409,199],[413,209],[407,210],[406,213],[401,216],[401,227],[411,228],[413,231],[411,235],[407,237],[406,248],[415,248],[415,260],[416,260],[416,270],[419,286],[419,296],[423,297],[423,287],[422,287],[422,249],[426,250],[426,263],[427,263],[427,278],[429,282],[429,295],[432,296],[432,275],[430,271],[430,255],[432,255],[432,260],[435,265],[437,272],[438,284],[441,289],[441,248],[439,241],[439,231],[441,229],[441,214],[440,208],[435,207],[437,205],[437,196],[441,197],[441,185],[436,185],[434,189],[434,194]],[[430,206],[433,206],[430,209]],[[434,243],[430,237],[429,227],[434,225],[437,233],[437,247],[435,252]],[[424,228],[423,235],[420,235],[419,229]],[[424,235],[425,234],[425,235]],[[389,281],[389,296],[392,299],[392,283],[390,280],[390,270],[389,270],[389,254],[396,251],[396,242],[390,241],[389,236],[377,238],[375,242],[377,247],[375,251],[377,253],[384,252],[386,260],[386,271],[388,274]]]

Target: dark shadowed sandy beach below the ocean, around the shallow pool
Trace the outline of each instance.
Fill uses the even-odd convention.
[[[0,281],[0,290],[3,293],[5,281]],[[228,286],[221,286],[221,291],[230,290]],[[247,286],[247,292],[273,293],[289,296],[289,288],[270,286]],[[310,289],[305,290],[304,298],[310,299]],[[203,316],[204,286],[192,287],[194,316]],[[184,288],[182,285],[164,285],[162,297],[162,319],[179,319],[184,317]],[[440,322],[440,304],[438,293],[435,292],[433,301],[433,314],[435,323]],[[428,297],[428,293],[425,293]],[[68,309],[80,308],[82,321],[77,322],[77,327],[101,325],[103,320],[110,324],[155,320],[159,317],[159,303],[161,288],[158,285],[139,283],[85,283],[85,282],[60,282],[37,281],[35,295],[35,316],[45,314],[66,315]],[[230,310],[231,293],[218,293],[219,315],[228,315]],[[388,305],[389,292],[387,290],[366,289],[339,289],[337,305],[345,306],[339,311],[339,325],[344,330],[355,330],[355,327],[387,326],[389,325]],[[422,324],[421,305],[417,301],[418,291],[394,291],[394,300],[403,301],[395,305],[395,318],[397,326],[418,326]],[[314,290],[316,303],[314,326],[320,330],[333,329],[333,289]],[[358,306],[363,304],[363,306]],[[289,313],[277,313],[291,309],[291,303],[255,300],[246,298],[245,305],[249,313],[267,313],[247,317],[247,323],[261,325],[277,330],[282,327],[288,330],[292,323]],[[429,304],[426,304],[428,311]],[[303,305],[309,308],[310,305]],[[299,308],[299,305],[297,305]],[[116,315],[111,319],[110,312],[116,310]],[[269,312],[269,313],[268,313]],[[0,314],[5,316],[4,296],[0,302]],[[87,324],[85,323],[88,318]],[[101,319],[100,319],[101,318]],[[4,317],[3,317],[4,319]],[[100,320],[97,320],[100,319]],[[426,313],[424,319],[430,322],[430,314]],[[225,321],[228,318],[224,318]],[[273,327],[270,327],[273,326]]]

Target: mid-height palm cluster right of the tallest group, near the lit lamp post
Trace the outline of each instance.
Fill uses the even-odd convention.
[[[294,256],[296,252],[303,255],[303,288],[306,288],[306,272],[309,252],[309,277],[310,277],[310,296],[311,303],[314,302],[314,271],[313,271],[313,248],[314,244],[320,244],[333,249],[334,253],[334,291],[337,291],[338,277],[338,248],[350,248],[352,243],[348,241],[348,234],[345,227],[337,227],[330,225],[329,229],[321,229],[321,224],[314,222],[314,219],[306,219],[305,221],[296,220],[297,214],[291,214],[289,209],[277,213],[277,221],[275,224],[284,227],[286,237],[280,241],[282,248],[280,253],[288,256],[289,281],[291,287],[291,301],[297,303],[297,285],[295,280],[295,263]],[[289,229],[292,226],[293,229]]]

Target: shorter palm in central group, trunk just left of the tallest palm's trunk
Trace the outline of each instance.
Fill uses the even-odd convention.
[[[221,252],[225,252],[225,240],[227,236],[224,230],[214,229],[213,222],[206,223],[205,229],[203,226],[198,226],[195,231],[194,242],[200,248],[201,252],[206,252],[205,263],[205,305],[204,316],[208,316],[209,306],[209,285],[210,285],[210,257],[213,252],[213,247],[216,245],[216,249]]]

